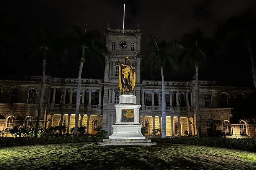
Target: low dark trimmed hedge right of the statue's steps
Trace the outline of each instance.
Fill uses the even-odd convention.
[[[191,144],[201,146],[213,146],[220,148],[239,149],[243,151],[256,152],[256,138],[195,138],[195,137],[175,137],[175,138],[150,138],[152,142]]]

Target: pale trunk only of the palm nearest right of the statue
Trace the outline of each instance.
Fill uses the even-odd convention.
[[[161,77],[162,77],[162,138],[166,137],[166,106],[165,106],[165,80],[163,77],[163,67],[161,67]]]

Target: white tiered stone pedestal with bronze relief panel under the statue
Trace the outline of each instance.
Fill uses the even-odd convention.
[[[140,105],[136,104],[136,96],[123,94],[119,96],[116,108],[116,123],[109,139],[145,139],[141,134]]]

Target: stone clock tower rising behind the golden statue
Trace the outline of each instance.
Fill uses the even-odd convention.
[[[109,134],[113,133],[112,125],[116,122],[115,104],[119,104],[121,92],[118,87],[119,65],[126,56],[129,56],[129,64],[136,69],[136,85],[134,95],[137,96],[136,103],[140,104],[140,32],[139,24],[137,29],[111,29],[108,23],[105,40],[108,54],[106,55],[106,67],[104,71],[104,96],[103,96],[103,129]]]

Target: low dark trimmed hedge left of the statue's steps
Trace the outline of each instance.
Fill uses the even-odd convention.
[[[35,144],[55,144],[55,143],[78,143],[78,142],[97,142],[102,138],[90,138],[90,137],[54,137],[54,136],[42,136],[40,138],[30,137],[0,137],[0,147],[8,146],[23,146],[23,145],[35,145]]]

